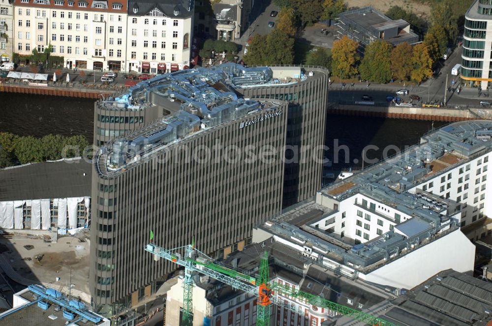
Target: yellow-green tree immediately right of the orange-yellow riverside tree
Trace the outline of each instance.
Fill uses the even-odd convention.
[[[393,46],[381,39],[371,42],[359,66],[361,78],[367,81],[388,82],[391,79],[391,50]]]

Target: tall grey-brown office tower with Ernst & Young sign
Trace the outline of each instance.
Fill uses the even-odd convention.
[[[164,261],[151,264],[142,250],[150,230],[163,246],[194,236],[205,252],[223,257],[244,247],[252,225],[284,202],[314,194],[322,164],[312,155],[322,157],[328,74],[313,70],[307,77],[299,67],[187,69],[95,104],[101,151],[92,174],[94,305],[116,313],[174,270]],[[310,106],[298,103],[304,101]],[[320,136],[308,137],[304,128]],[[286,145],[306,146],[306,164],[284,162]],[[231,146],[239,150],[232,161],[224,156]],[[272,160],[254,159],[264,146],[273,148]],[[246,148],[253,161],[245,163]],[[210,150],[214,160],[196,149]]]

